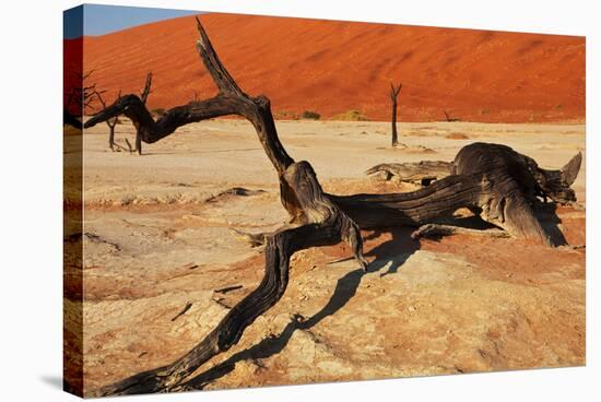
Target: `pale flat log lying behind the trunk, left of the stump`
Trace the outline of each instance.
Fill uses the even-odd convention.
[[[451,174],[452,163],[444,161],[421,161],[408,163],[379,164],[367,169],[367,175],[382,175],[386,180],[392,178],[399,181],[428,186]]]

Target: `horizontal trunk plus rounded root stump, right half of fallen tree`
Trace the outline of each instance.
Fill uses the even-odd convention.
[[[507,145],[476,142],[459,151],[449,164],[450,176],[425,189],[403,194],[349,196],[334,201],[362,228],[378,227],[385,222],[420,226],[466,206],[514,237],[552,245],[532,205],[538,197],[558,203],[576,201],[570,185],[578,175],[581,157],[578,153],[561,170],[551,170]],[[398,170],[403,172],[405,165],[415,166],[400,164]],[[379,166],[368,172],[389,172]],[[428,174],[429,163],[425,166]]]

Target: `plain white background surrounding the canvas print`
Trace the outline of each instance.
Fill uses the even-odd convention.
[[[201,11],[587,36],[587,367],[134,397],[137,401],[599,398],[599,22],[597,1],[111,1]],[[4,0],[0,24],[0,400],[74,400],[60,391],[62,14],[74,1]],[[592,229],[592,230],[591,230]],[[361,336],[361,334],[357,334]],[[123,399],[129,400],[129,399]],[[599,400],[599,399],[597,399]]]

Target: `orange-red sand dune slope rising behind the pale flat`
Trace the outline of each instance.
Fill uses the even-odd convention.
[[[325,118],[357,109],[390,115],[402,82],[405,121],[584,121],[585,38],[234,14],[201,20],[222,61],[275,113]],[[139,93],[154,73],[151,108],[214,95],[196,51],[193,17],[84,39],[84,70],[107,90]]]

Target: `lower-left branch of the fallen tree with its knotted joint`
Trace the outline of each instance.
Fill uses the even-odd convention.
[[[293,163],[283,176],[299,191],[298,202],[307,222],[267,238],[266,273],[259,286],[181,358],[102,388],[93,397],[174,390],[208,359],[237,343],[244,330],[282,297],[288,281],[290,258],[298,250],[346,241],[357,262],[366,269],[358,227],[323,193],[311,166],[307,162]]]

